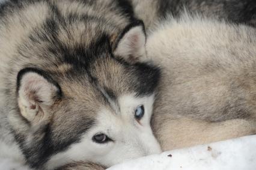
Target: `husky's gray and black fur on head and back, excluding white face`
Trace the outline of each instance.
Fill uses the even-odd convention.
[[[117,109],[118,97],[153,96],[159,70],[133,60],[136,49],[121,53],[127,31],[133,26],[144,31],[127,5],[125,0],[13,0],[0,6],[0,140],[19,146],[18,159],[31,168],[46,169],[51,157],[79,143],[97,126],[100,108]],[[142,34],[135,34],[132,45]],[[136,154],[151,152],[150,147]],[[115,154],[112,162],[126,155]],[[68,162],[49,167],[63,163]]]

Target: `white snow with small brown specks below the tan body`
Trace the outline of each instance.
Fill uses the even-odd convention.
[[[256,170],[256,135],[141,157],[109,168],[126,169]]]

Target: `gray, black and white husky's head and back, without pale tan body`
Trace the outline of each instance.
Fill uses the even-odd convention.
[[[159,69],[126,1],[0,7],[1,157],[34,169],[111,166],[160,152],[150,127]],[[124,8],[125,7],[125,8]]]

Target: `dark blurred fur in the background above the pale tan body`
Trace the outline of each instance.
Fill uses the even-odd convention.
[[[180,16],[184,8],[204,16],[224,19],[232,23],[256,26],[256,1],[254,0],[129,0],[137,17],[150,28],[159,18],[169,14]]]

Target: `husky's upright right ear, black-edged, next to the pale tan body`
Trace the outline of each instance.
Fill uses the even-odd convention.
[[[141,61],[145,57],[145,26],[138,20],[124,28],[114,46],[114,55],[127,62]]]

